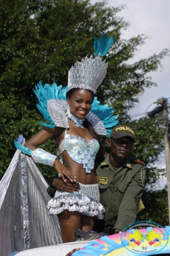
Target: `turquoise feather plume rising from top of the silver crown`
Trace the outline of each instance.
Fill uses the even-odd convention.
[[[108,39],[107,33],[101,36],[100,40],[95,38],[95,42],[94,42],[95,56],[98,56],[99,53],[101,56],[106,55],[113,44],[113,40],[114,40],[113,36]]]

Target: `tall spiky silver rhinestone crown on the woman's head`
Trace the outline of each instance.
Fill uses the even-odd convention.
[[[92,90],[94,93],[107,73],[108,63],[102,62],[100,53],[95,59],[85,57],[76,61],[69,71],[68,91],[72,88]]]

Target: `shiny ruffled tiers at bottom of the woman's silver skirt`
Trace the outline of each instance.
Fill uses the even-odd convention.
[[[97,216],[97,219],[104,218],[103,213],[105,212],[103,205],[99,201],[78,193],[66,193],[65,195],[54,197],[48,202],[47,208],[50,215],[69,210],[69,212],[76,211],[87,216]]]

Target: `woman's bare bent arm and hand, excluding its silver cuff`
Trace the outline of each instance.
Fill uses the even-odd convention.
[[[49,129],[48,127],[44,127],[39,133],[33,135],[31,139],[29,139],[24,146],[31,148],[31,150],[36,150],[37,147],[39,147],[42,143],[45,141],[48,141],[48,139],[54,137],[57,134],[58,127],[55,127],[54,129]],[[71,174],[71,172],[61,163],[58,159],[54,161],[54,167],[56,171],[61,175],[64,182],[65,176],[70,181],[76,181],[75,176]]]

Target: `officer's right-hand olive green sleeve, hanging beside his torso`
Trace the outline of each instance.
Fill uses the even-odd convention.
[[[126,226],[135,222],[139,201],[142,197],[145,180],[145,166],[139,167],[125,191],[124,198],[118,211],[117,222],[113,229],[124,230]]]

